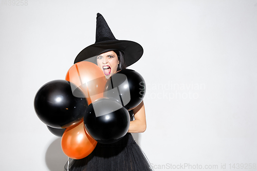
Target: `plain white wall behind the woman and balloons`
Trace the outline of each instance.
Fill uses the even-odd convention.
[[[95,42],[97,12],[144,48],[129,67],[146,81],[147,129],[134,136],[155,170],[256,170],[256,0],[0,3],[1,170],[63,170],[33,100]]]

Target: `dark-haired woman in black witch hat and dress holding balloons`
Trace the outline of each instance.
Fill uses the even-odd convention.
[[[106,79],[121,69],[126,69],[137,62],[143,54],[143,48],[136,42],[117,40],[106,21],[97,13],[96,42],[83,49],[74,63],[89,61],[97,64]],[[72,160],[65,169],[82,170],[153,170],[141,148],[134,141],[130,132],[144,132],[146,129],[144,104],[141,102],[130,110],[131,123],[128,133],[112,144],[98,143],[94,151],[80,160]]]

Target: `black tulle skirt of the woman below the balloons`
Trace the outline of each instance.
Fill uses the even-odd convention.
[[[64,166],[67,171],[146,171],[153,170],[141,148],[127,133],[120,141],[113,144],[97,143],[94,151],[87,157],[71,159]]]

